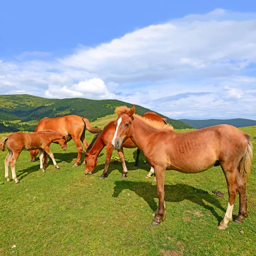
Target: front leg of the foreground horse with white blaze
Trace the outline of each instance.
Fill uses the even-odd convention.
[[[158,210],[152,225],[158,225],[166,219],[166,209],[164,205],[164,175],[166,168],[163,166],[154,166],[154,172],[157,177],[157,197],[158,197]]]

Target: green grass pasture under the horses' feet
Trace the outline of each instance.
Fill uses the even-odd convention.
[[[256,127],[241,129],[256,136]],[[90,142],[93,134],[86,132],[86,137]],[[255,139],[253,145],[255,148]],[[93,175],[85,177],[84,166],[72,168],[77,156],[73,141],[68,143],[65,152],[58,145],[51,148],[60,169],[55,169],[50,160],[43,173],[39,170],[38,158],[35,163],[29,162],[29,152],[23,151],[16,165],[19,184],[6,182],[6,152],[0,152],[0,182],[4,182],[0,185],[0,255],[255,253],[255,158],[247,182],[250,214],[243,224],[231,222],[223,231],[218,230],[218,223],[224,217],[228,195],[219,167],[194,175],[166,171],[166,221],[151,226],[151,214],[157,208],[157,191],[153,178],[144,178],[148,167],[143,154],[140,169],[134,170],[135,149],[124,150],[125,157],[132,159],[127,163],[126,180],[120,180],[120,163],[111,163],[108,177],[99,180],[104,169],[105,149]],[[223,192],[224,197],[215,196],[211,192],[214,189]],[[209,194],[204,194],[204,190]],[[238,214],[238,199],[233,218]],[[16,247],[12,248],[14,244]]]

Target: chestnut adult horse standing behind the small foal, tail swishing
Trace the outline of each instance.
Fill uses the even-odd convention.
[[[85,149],[87,149],[89,145],[85,140],[85,128],[87,128],[87,130],[91,133],[98,133],[100,131],[98,128],[93,128],[90,125],[88,119],[76,115],[61,116],[56,118],[43,118],[38,123],[35,131],[56,131],[64,134],[67,138],[67,142],[73,139],[78,150],[76,163],[73,165],[73,167],[77,167],[81,159],[81,153],[83,151],[80,140],[84,144]],[[38,153],[35,151],[30,151],[32,162],[35,161],[37,154]],[[44,166],[46,165],[47,153],[44,152]]]

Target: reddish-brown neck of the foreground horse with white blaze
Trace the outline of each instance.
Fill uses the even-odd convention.
[[[132,122],[131,140],[141,150],[145,147],[145,145],[148,144],[148,139],[158,132],[160,131],[152,128],[140,119],[134,117],[134,120]]]

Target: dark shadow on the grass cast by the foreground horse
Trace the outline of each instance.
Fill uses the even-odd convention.
[[[154,198],[157,198],[157,185],[148,182],[127,180],[115,181],[113,197],[117,198],[124,189],[129,189],[130,191],[135,192],[138,196],[143,198],[148,203],[153,212],[158,208],[158,204],[154,201]],[[197,191],[200,191],[198,193],[194,187],[186,184],[165,185],[164,190],[164,201],[166,202],[178,203],[184,200],[189,200],[192,203],[198,204],[199,206],[204,207],[205,209],[212,212],[218,222],[223,219],[223,216],[219,216],[214,207],[208,205],[212,204],[218,209],[221,209],[223,212],[226,211],[226,209],[221,206],[218,199],[215,198],[215,195],[204,194],[202,189],[196,189]],[[206,201],[207,204],[205,204],[203,200]]]

